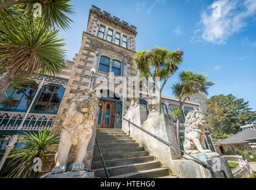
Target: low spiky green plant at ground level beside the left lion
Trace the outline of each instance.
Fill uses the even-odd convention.
[[[8,156],[12,166],[17,165],[8,178],[38,178],[41,173],[33,171],[33,160],[40,158],[43,166],[45,162],[50,162],[48,158],[55,154],[58,144],[58,131],[24,132],[22,136],[23,140],[18,143],[24,144],[24,147],[13,149]]]

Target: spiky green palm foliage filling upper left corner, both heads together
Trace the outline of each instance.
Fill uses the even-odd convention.
[[[42,5],[42,18],[33,17],[36,2]],[[68,29],[72,20],[67,14],[73,13],[70,0],[0,0],[0,97],[33,72],[60,73],[64,43],[55,27]]]

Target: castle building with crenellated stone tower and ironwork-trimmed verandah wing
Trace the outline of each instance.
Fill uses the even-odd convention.
[[[118,17],[92,5],[88,17],[87,31],[82,33],[79,52],[72,61],[67,61],[67,69],[57,78],[51,76],[30,76],[33,82],[26,89],[13,89],[7,93],[8,99],[0,99],[0,153],[17,147],[17,140],[23,131],[60,128],[69,100],[82,90],[94,85],[100,87],[100,113],[97,128],[122,128],[122,116],[132,103],[127,96],[133,88],[129,78],[137,78],[134,66],[135,37],[137,28],[121,21]],[[95,69],[91,79],[91,69]],[[107,90],[104,90],[107,89]],[[104,91],[104,92],[103,92]],[[139,97],[143,120],[147,118],[147,97]],[[162,113],[172,115],[179,105],[178,100],[162,97]],[[199,109],[200,105],[186,102],[181,118],[181,142],[187,113]],[[172,115],[175,127],[176,118]],[[211,135],[206,129],[206,145],[214,150]],[[4,156],[0,156],[0,176],[6,166]]]

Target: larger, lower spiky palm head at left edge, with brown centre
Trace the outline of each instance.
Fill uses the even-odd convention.
[[[0,97],[14,76],[26,78],[34,72],[58,75],[65,68],[63,39],[43,20],[6,17],[0,20],[0,30]]]

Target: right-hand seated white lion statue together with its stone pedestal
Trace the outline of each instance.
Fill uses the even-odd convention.
[[[217,170],[224,170],[226,178],[233,178],[226,158],[206,149],[205,128],[206,118],[199,110],[193,110],[187,114],[184,131],[184,151]],[[225,178],[223,172],[203,167],[198,160],[187,154],[184,154],[181,160],[172,161],[172,172],[179,178]]]

